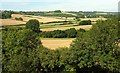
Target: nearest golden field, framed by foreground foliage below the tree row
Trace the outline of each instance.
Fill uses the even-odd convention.
[[[74,38],[70,39],[58,39],[58,38],[41,38],[42,45],[55,50],[59,47],[69,47]]]

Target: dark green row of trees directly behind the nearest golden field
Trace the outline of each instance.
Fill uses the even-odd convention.
[[[54,30],[54,31],[43,31],[40,33],[40,37],[44,38],[76,38],[79,32],[85,32],[84,29],[76,30],[70,28],[67,30]]]

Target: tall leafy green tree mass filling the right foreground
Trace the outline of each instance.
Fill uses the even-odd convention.
[[[119,55],[115,55],[118,45],[116,20],[99,21],[89,32],[81,33],[71,46],[78,66],[89,72],[120,72]],[[93,70],[96,68],[95,70]],[[92,70],[91,70],[92,69]],[[100,72],[101,72],[100,71]]]

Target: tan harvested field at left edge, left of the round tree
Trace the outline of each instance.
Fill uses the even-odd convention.
[[[5,26],[5,25],[17,25],[17,24],[25,24],[26,22],[23,21],[16,21],[13,19],[0,19],[0,22],[2,25],[0,26]]]

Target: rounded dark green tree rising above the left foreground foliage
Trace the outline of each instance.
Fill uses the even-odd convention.
[[[40,23],[36,19],[31,19],[26,23],[26,28],[31,29],[35,32],[40,31]]]

